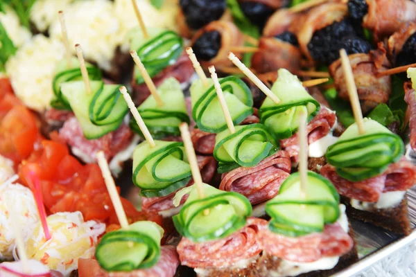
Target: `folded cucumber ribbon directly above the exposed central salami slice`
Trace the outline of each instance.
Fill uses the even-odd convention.
[[[225,129],[216,135],[214,158],[218,172],[224,173],[239,166],[250,168],[274,154],[279,146],[263,124],[236,126],[231,134]]]

